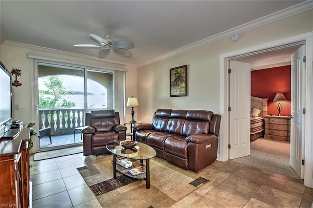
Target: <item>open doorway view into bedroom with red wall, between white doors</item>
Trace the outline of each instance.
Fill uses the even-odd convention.
[[[250,108],[251,112],[261,110],[260,115],[251,113],[249,156],[237,158],[234,161],[296,179],[300,179],[301,170],[292,166],[296,170],[294,171],[290,165],[292,164],[290,152],[293,151],[290,144],[292,115],[290,60],[292,54],[300,46],[291,46],[236,60],[251,63]],[[284,62],[277,57],[282,57]],[[273,61],[267,64],[269,62],[267,58]],[[277,106],[277,96],[284,98],[281,99],[284,101],[279,101],[279,106]],[[294,137],[294,140],[297,138]]]

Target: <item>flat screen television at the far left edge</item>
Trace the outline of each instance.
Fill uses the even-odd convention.
[[[12,76],[0,62],[0,138],[11,127],[12,121]]]

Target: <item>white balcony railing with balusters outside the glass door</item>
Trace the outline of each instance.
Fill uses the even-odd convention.
[[[51,127],[51,135],[72,134],[81,126],[85,126],[84,109],[39,110],[39,129]]]

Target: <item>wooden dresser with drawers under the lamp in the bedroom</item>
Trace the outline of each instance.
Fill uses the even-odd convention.
[[[264,116],[265,139],[290,142],[290,117],[289,116]]]

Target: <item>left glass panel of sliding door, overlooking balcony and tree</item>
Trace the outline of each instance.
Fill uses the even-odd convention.
[[[84,70],[38,62],[39,132],[50,128],[51,134],[51,142],[49,136],[40,138],[40,148],[82,142],[74,130],[85,125]]]

